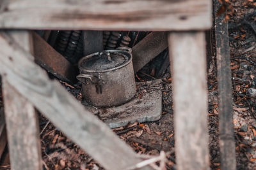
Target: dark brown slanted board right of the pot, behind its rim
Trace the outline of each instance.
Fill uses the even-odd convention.
[[[134,72],[139,71],[167,47],[167,32],[151,32],[148,34],[137,45],[132,47]]]

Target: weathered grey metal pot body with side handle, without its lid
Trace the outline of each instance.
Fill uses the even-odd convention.
[[[107,52],[111,51],[129,55],[131,59],[124,66],[106,71],[88,71],[79,67],[81,74],[77,76],[77,79],[83,82],[83,97],[93,106],[120,105],[132,99],[136,94],[131,53],[122,50]]]

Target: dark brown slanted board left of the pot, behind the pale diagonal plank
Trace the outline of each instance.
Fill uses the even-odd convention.
[[[77,69],[38,34],[33,32],[32,36],[35,62],[60,80],[76,81]]]

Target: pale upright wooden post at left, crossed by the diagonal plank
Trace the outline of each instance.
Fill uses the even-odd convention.
[[[8,32],[29,50],[28,32]],[[11,59],[9,57],[9,59]],[[28,58],[31,60],[31,57]],[[42,169],[38,122],[33,105],[3,76],[3,95],[12,169]]]

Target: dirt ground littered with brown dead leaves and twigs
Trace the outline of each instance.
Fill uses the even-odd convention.
[[[256,99],[248,94],[248,89],[256,89],[256,3],[253,0],[248,0],[230,1],[229,4],[226,18],[230,38],[237,169],[256,169]],[[211,55],[207,70],[210,166],[211,169],[220,169],[218,82],[216,57],[214,53]],[[154,80],[152,78],[154,73],[148,71],[147,67],[143,71],[148,75],[138,73],[137,81]],[[169,153],[166,167],[167,169],[176,169],[173,152],[175,133],[173,131],[172,77],[170,71],[166,70],[161,79],[163,80],[163,89],[161,89],[163,92],[163,115],[161,119],[144,124],[129,124],[126,127],[113,129],[113,131],[137,153],[157,155],[161,150]],[[81,85],[79,83],[74,86],[63,82],[62,84],[68,92],[81,101]],[[0,97],[0,107],[3,106],[2,101],[3,99]],[[40,113],[38,115],[44,169],[103,169],[79,146],[70,141],[65,134],[56,129],[47,118]],[[10,169],[10,166],[0,166],[0,169]]]

